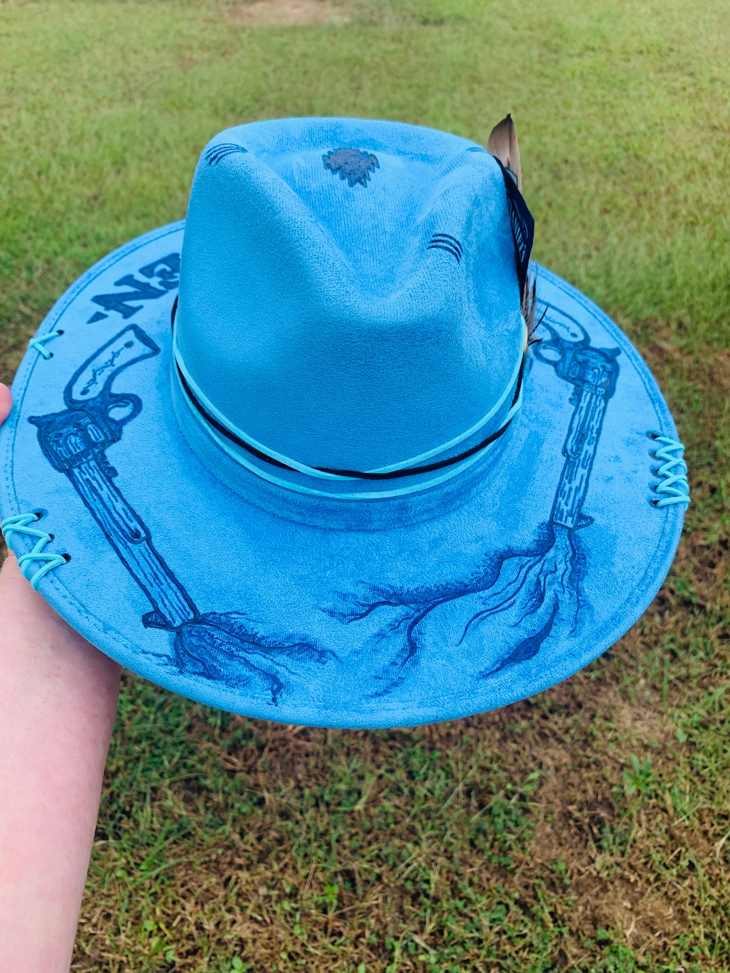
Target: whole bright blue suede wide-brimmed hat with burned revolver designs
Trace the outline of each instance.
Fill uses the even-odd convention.
[[[231,128],[186,222],[58,301],[13,385],[0,508],[75,629],[202,703],[387,727],[530,696],[636,622],[682,447],[626,336],[530,270],[505,144]]]

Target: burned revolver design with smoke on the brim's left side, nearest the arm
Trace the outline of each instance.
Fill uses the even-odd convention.
[[[98,523],[152,611],[149,629],[171,633],[171,652],[148,653],[179,672],[241,687],[258,683],[276,703],[293,675],[292,664],[335,658],[304,635],[257,631],[242,612],[201,613],[152,543],[147,525],[114,484],[106,450],[142,411],[138,396],[112,391],[130,365],[160,349],[136,325],[98,348],[66,385],[63,412],[31,416],[51,465],[65,474]],[[101,384],[103,379],[103,384]],[[99,387],[100,386],[100,387]],[[93,392],[94,394],[90,394]]]

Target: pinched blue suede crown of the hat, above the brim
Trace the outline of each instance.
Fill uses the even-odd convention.
[[[508,181],[480,146],[418,126],[221,132],[193,182],[175,323],[194,407],[279,469],[404,466],[483,439],[526,342]]]

